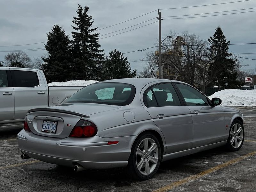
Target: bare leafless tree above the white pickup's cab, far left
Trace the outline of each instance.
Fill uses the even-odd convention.
[[[4,56],[6,66],[11,66],[13,63],[20,63],[22,67],[31,68],[31,59],[25,52],[12,52]]]

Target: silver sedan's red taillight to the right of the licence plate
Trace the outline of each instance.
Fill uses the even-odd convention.
[[[92,122],[80,120],[73,128],[69,137],[93,137],[97,131],[97,127]]]

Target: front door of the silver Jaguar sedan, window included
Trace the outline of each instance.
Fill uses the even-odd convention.
[[[226,140],[224,111],[190,85],[176,83],[193,119],[193,148]]]

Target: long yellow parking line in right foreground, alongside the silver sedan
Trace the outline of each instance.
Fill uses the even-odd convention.
[[[166,185],[166,186],[164,186],[164,187],[162,187],[162,188],[158,188],[158,189],[156,189],[156,190],[153,191],[153,192],[169,191],[169,190],[171,190],[172,188],[178,187],[178,186],[180,186],[180,185],[186,184],[186,183],[191,182],[191,181],[195,181],[196,179],[199,179],[199,178],[201,178],[201,177],[203,177],[203,176],[205,176],[205,175],[207,175],[207,174],[210,174],[210,173],[212,173],[212,172],[214,172],[214,171],[217,171],[217,170],[219,170],[219,169],[221,169],[221,168],[227,167],[227,166],[229,166],[229,165],[231,165],[231,164],[237,163],[238,161],[241,161],[241,160],[246,159],[247,157],[253,156],[253,155],[256,155],[256,151],[254,151],[254,152],[252,152],[252,153],[248,153],[248,154],[243,155],[243,156],[241,156],[241,157],[238,157],[238,158],[236,158],[236,159],[227,161],[226,163],[220,164],[220,165],[218,165],[218,166],[216,166],[216,167],[212,167],[212,168],[207,169],[207,170],[205,170],[205,171],[203,171],[203,172],[201,172],[201,173],[198,173],[198,174],[195,174],[195,175],[191,175],[191,176],[189,176],[189,177],[186,177],[186,178],[184,178],[184,179],[181,179],[180,181],[176,181],[176,182],[170,183],[169,185]]]

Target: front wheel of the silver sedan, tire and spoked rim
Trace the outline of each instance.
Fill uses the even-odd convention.
[[[226,148],[228,151],[238,151],[244,143],[244,125],[235,119],[230,126]]]

